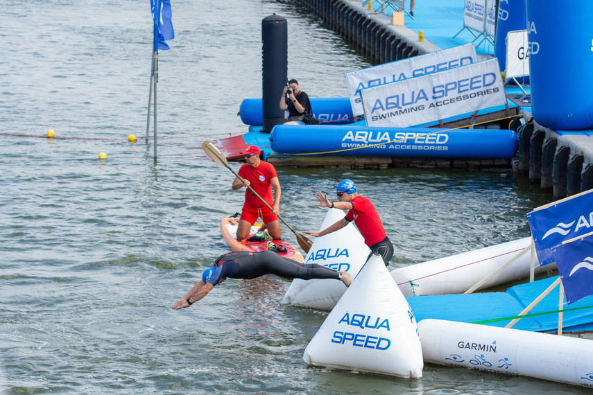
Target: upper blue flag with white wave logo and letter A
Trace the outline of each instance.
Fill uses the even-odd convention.
[[[552,247],[593,231],[592,192],[553,202],[527,214],[540,265],[554,261]]]

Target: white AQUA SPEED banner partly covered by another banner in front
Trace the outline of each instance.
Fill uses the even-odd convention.
[[[344,73],[350,103],[352,104],[352,114],[361,115],[364,112],[360,94],[361,89],[435,73],[452,67],[465,66],[477,62],[477,59],[474,44],[464,44],[451,49],[443,49],[442,51]]]

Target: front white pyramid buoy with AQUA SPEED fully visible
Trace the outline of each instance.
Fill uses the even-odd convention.
[[[422,378],[422,346],[408,302],[373,255],[303,354],[309,365]]]

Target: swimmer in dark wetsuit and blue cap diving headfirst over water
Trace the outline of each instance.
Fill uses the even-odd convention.
[[[272,251],[230,252],[216,259],[214,265],[203,272],[202,279],[171,308],[179,310],[191,306],[208,295],[214,286],[225,281],[227,277],[255,279],[264,274],[303,280],[335,279],[341,280],[347,287],[352,284],[352,277],[348,272],[336,272],[329,267],[316,264],[303,265]]]

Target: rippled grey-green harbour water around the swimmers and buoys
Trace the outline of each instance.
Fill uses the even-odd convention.
[[[4,376],[10,394],[574,392],[434,365],[421,380],[307,367],[302,352],[327,314],[280,304],[289,282],[277,277],[229,280],[189,309],[169,308],[227,250],[219,222],[242,205],[233,175],[199,159],[200,145],[246,131],[237,111],[261,96],[261,19],[288,19],[289,75],[309,96],[345,96],[343,73],[370,65],[298,3],[173,3],[157,161],[143,138],[148,4],[33,1],[8,12],[3,132],[76,137],[0,137],[0,387]],[[508,170],[278,174],[282,216],[304,230],[325,215],[313,193],[354,179],[395,243],[392,268],[527,236],[526,213],[549,200]]]

